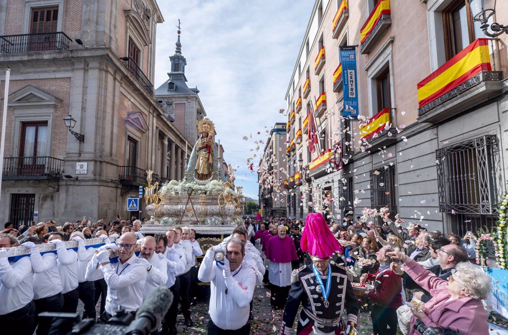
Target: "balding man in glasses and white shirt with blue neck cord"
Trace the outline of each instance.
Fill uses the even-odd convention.
[[[143,287],[151,264],[134,254],[136,241],[133,232],[126,232],[120,236],[116,248],[113,244],[110,245],[112,249],[118,251],[118,262],[111,264],[109,250],[102,250],[94,256],[97,261],[92,259],[88,263],[87,272],[90,271],[90,266],[94,269],[95,264],[100,265],[99,271],[104,274],[104,280],[108,285],[106,311],[101,316],[103,321],[109,320],[120,306],[126,312],[134,312],[143,303]]]

